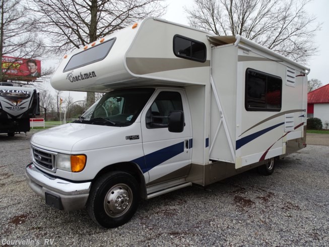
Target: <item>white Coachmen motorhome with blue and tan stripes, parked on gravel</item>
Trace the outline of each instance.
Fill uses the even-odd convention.
[[[239,35],[147,18],[65,55],[57,90],[107,92],[31,138],[32,190],[116,227],[150,199],[306,146],[309,69]]]

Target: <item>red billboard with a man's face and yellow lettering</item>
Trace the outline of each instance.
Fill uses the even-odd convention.
[[[1,69],[9,78],[38,78],[41,76],[41,61],[32,58],[3,56]]]

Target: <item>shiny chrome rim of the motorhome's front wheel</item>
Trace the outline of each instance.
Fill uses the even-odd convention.
[[[108,216],[119,217],[123,215],[133,202],[133,192],[124,183],[115,184],[104,198],[104,209]]]

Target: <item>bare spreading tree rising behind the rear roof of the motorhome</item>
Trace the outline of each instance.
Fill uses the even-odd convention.
[[[241,35],[300,63],[314,55],[316,18],[310,0],[194,0],[189,24],[217,35]]]

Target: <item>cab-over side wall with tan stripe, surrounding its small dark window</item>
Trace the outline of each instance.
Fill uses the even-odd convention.
[[[210,81],[210,44],[205,32],[147,19],[128,50],[125,58],[127,69],[138,77],[191,84]],[[175,56],[173,37],[179,34],[201,41],[207,47],[205,63]]]

